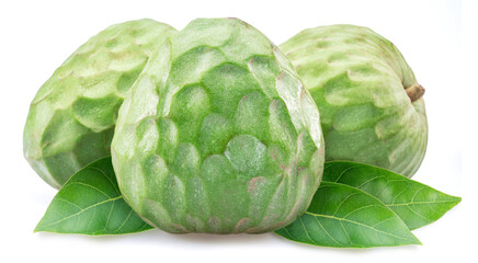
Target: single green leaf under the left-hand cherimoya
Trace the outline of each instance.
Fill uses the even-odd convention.
[[[73,174],[54,197],[37,231],[122,235],[151,227],[123,199],[111,158],[90,163]]]

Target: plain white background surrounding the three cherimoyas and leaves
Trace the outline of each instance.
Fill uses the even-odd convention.
[[[0,262],[477,262],[477,13],[471,1],[2,1]],[[442,219],[413,231],[423,245],[330,249],[272,233],[33,233],[56,193],[22,153],[29,104],[43,82],[113,23],[151,18],[181,30],[195,18],[215,16],[240,18],[277,45],[306,27],[351,23],[398,46],[426,88],[429,148],[413,179],[463,197]]]

